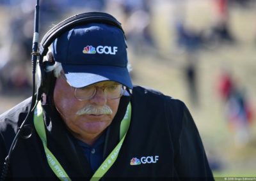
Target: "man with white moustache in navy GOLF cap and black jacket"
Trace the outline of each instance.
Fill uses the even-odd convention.
[[[48,56],[54,81],[28,116],[8,171],[4,159],[31,98],[0,116],[7,178],[213,179],[184,103],[132,85],[120,28],[77,25],[54,40]]]

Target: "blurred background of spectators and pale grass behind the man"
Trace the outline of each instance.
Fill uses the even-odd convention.
[[[0,113],[31,96],[35,2],[0,0]],[[214,176],[256,177],[255,0],[40,2],[40,40],[70,15],[114,15],[134,84],[186,103]]]

